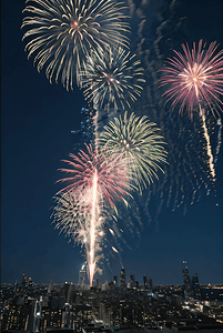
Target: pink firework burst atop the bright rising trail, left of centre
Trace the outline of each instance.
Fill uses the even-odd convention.
[[[102,151],[93,150],[91,145],[85,144],[87,152],[80,150],[78,155],[70,153],[72,161],[63,160],[70,169],[60,169],[68,176],[60,179],[58,182],[69,182],[60,192],[80,193],[85,198],[85,205],[91,205],[91,191],[95,182],[97,174],[97,196],[98,201],[109,202],[115,208],[114,201],[130,195],[130,180],[126,175],[124,163],[121,155],[112,158]],[[78,194],[79,195],[79,194]],[[88,200],[89,198],[89,200]],[[125,202],[126,203],[126,202]]]

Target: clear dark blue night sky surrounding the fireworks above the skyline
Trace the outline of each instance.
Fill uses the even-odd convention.
[[[136,1],[135,1],[136,2]],[[190,36],[223,48],[223,2],[187,1]],[[37,283],[78,283],[84,259],[80,248],[68,243],[51,224],[52,196],[60,160],[72,151],[72,130],[80,128],[82,92],[67,92],[50,84],[44,71],[37,72],[21,41],[24,0],[1,1],[1,281],[14,283],[24,273]],[[191,37],[193,40],[193,38]],[[181,49],[179,44],[179,50]],[[197,152],[199,153],[199,152]],[[223,282],[223,150],[216,164],[216,195],[212,191],[193,205],[172,212],[162,208],[159,221],[142,220],[140,240],[122,246],[122,264],[142,283],[143,274],[154,284],[183,283],[182,262],[200,283]],[[158,204],[158,203],[154,203]],[[123,211],[124,214],[124,211]],[[134,230],[134,229],[133,229]],[[100,282],[120,276],[119,260],[104,263]]]

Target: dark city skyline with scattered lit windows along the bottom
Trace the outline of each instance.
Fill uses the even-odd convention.
[[[223,332],[223,285],[200,285],[187,268],[182,285],[153,285],[145,275],[140,284],[124,269],[91,287],[85,278],[83,266],[78,284],[37,284],[26,275],[2,284],[1,332]]]

